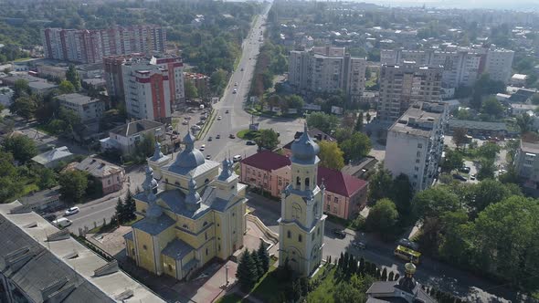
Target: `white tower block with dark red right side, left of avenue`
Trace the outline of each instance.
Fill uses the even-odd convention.
[[[130,118],[162,121],[172,114],[168,69],[133,59],[122,65],[125,108]]]

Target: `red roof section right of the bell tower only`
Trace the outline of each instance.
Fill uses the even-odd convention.
[[[349,174],[325,168],[318,167],[318,180],[317,183],[325,185],[325,189],[328,192],[337,193],[345,197],[352,196],[355,192],[364,188],[367,185],[365,180],[358,179]]]

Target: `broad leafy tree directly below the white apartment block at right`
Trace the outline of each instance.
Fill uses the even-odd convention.
[[[443,186],[430,187],[416,193],[412,205],[414,214],[420,219],[460,209],[459,197]]]

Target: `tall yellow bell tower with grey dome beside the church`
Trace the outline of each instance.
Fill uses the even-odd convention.
[[[325,187],[319,187],[320,147],[307,132],[292,145],[291,179],[280,195],[279,265],[309,277],[322,263]]]

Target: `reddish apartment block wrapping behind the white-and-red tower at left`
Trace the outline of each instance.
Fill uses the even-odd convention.
[[[185,100],[184,63],[182,57],[164,55],[154,55],[149,58],[143,57],[142,54],[103,57],[105,80],[107,82],[109,96],[118,100],[125,99],[122,68],[124,65],[130,68],[132,63],[153,65],[167,71],[172,110],[180,102]]]

